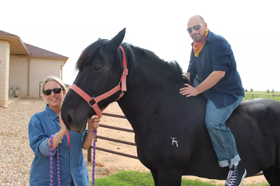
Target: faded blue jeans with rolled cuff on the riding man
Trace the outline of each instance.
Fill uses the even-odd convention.
[[[214,103],[207,99],[205,123],[218,158],[220,167],[233,165],[240,161],[234,137],[225,121],[233,110],[242,102],[240,96],[233,104],[217,109]]]

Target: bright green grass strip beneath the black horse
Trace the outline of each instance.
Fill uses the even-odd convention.
[[[89,184],[92,186],[92,182]],[[151,172],[139,171],[120,171],[115,174],[95,179],[95,186],[154,186],[154,180]],[[223,186],[222,184],[216,185],[207,183],[198,179],[185,179],[182,178],[181,186]],[[249,186],[249,185],[247,185]],[[250,186],[269,186],[268,183],[255,184]]]

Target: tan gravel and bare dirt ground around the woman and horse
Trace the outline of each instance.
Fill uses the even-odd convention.
[[[0,185],[29,185],[29,171],[34,153],[29,147],[28,123],[34,113],[44,109],[45,103],[43,99],[25,98],[12,102],[9,108],[0,108]],[[104,112],[123,115],[118,104],[115,102],[109,105]],[[132,129],[129,122],[122,118],[102,116],[100,123]],[[134,142],[134,133],[130,132],[99,127],[97,135]],[[96,146],[137,156],[136,147],[131,145],[97,139]],[[83,150],[83,154],[87,163],[90,180],[92,180],[92,161],[87,162],[87,150]],[[92,158],[91,156],[91,160]],[[139,160],[99,150],[96,150],[95,160],[95,178],[107,176],[120,170],[149,171]],[[211,181],[194,176],[184,177]],[[245,178],[243,183],[246,185],[263,183],[265,181],[264,176],[256,176]],[[214,180],[212,182],[223,184],[225,181]]]

